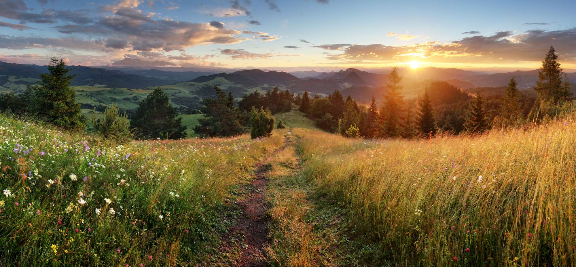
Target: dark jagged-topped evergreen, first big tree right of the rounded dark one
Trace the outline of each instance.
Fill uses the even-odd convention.
[[[202,100],[204,106],[200,110],[205,118],[198,120],[194,132],[201,137],[234,136],[246,132],[247,128],[240,124],[238,112],[230,109],[226,93],[217,86],[214,86],[214,91],[216,98]]]

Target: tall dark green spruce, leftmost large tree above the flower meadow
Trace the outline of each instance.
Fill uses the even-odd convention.
[[[70,83],[76,75],[68,75],[70,68],[61,58],[53,56],[48,63],[48,73],[40,75],[35,90],[37,115],[65,129],[82,130],[86,117],[82,115],[76,93]]]

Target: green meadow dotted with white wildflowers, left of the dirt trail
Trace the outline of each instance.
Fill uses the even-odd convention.
[[[227,197],[282,140],[123,146],[0,115],[0,265],[192,264],[226,226]]]

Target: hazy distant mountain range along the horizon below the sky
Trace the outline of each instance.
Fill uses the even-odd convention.
[[[369,101],[372,95],[380,96],[386,91],[385,85],[388,82],[388,73],[385,73],[384,69],[374,70],[381,73],[357,68],[331,72],[287,73],[274,70],[238,70],[218,73],[210,68],[193,71],[194,68],[182,68],[169,64],[165,64],[164,67],[157,66],[162,62],[149,62],[154,67],[146,67],[141,60],[134,63],[137,66],[128,66],[132,64],[132,61],[123,59],[116,62],[118,64],[113,64],[114,66],[70,66],[70,74],[76,75],[71,85],[128,90],[162,86],[165,89],[180,90],[170,91],[170,94],[173,94],[173,101],[180,101],[176,99],[177,97],[198,97],[198,100],[194,100],[198,104],[203,97],[211,96],[213,85],[221,86],[225,91],[232,91],[237,98],[250,91],[265,91],[279,87],[281,90],[290,90],[293,93],[306,90],[320,96],[339,89],[345,96],[350,94],[353,98],[358,98],[363,102]],[[415,70],[401,68],[399,72],[403,77],[401,85],[404,86],[403,93],[406,98],[418,96],[431,82],[436,81],[450,83],[460,90],[467,89],[465,90],[467,92],[473,91],[474,87],[480,85],[491,87],[491,93],[497,93],[498,90],[503,91],[502,86],[506,86],[511,77],[516,78],[520,89],[529,89],[538,80],[538,70],[486,74],[457,68],[426,67]],[[39,81],[40,74],[43,73],[47,73],[47,66],[0,62],[0,91],[24,90],[29,83]],[[571,83],[576,83],[576,73],[567,73],[567,77]],[[99,89],[99,94],[106,94],[106,92]],[[98,103],[109,104],[105,100],[100,100]]]

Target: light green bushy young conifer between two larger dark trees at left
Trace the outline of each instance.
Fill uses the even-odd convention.
[[[120,116],[118,110],[119,108],[116,105],[107,106],[104,116],[101,119],[96,119],[96,108],[94,108],[92,127],[103,138],[124,143],[132,139],[130,120],[128,120],[126,112],[124,112],[123,116]]]

